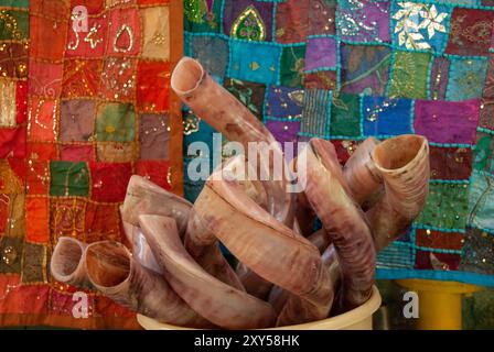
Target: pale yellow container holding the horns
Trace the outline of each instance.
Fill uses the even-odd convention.
[[[380,307],[380,295],[377,287],[373,287],[370,298],[362,306],[343,315],[329,319],[266,330],[372,330],[373,314]],[[137,320],[146,330],[194,330],[159,322],[154,319],[138,315]]]

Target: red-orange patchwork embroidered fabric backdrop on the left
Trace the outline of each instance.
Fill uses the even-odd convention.
[[[85,6],[87,31],[72,11]],[[50,276],[63,235],[122,240],[132,174],[182,193],[179,0],[0,0],[0,326],[137,328],[135,315]]]

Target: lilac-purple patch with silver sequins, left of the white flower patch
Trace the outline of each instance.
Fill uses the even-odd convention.
[[[354,8],[345,1],[340,12],[342,40],[353,42],[390,42],[389,2],[358,1]]]

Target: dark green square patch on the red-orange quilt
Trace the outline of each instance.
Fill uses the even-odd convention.
[[[89,172],[86,163],[51,162],[50,163],[51,196],[89,195]]]

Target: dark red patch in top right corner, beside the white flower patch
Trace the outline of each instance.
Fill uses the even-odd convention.
[[[493,11],[454,8],[445,52],[466,56],[487,55],[493,21]]]

